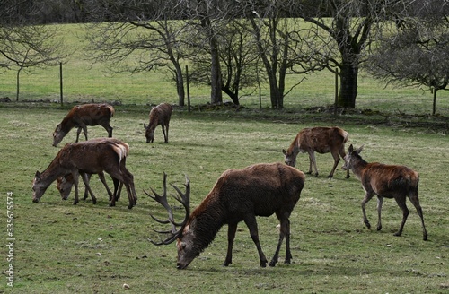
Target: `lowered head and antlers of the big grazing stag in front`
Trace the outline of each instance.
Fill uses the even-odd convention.
[[[163,195],[158,195],[153,190],[153,188],[150,188],[150,189],[153,192],[154,196],[146,193],[146,191],[144,191],[144,192],[150,198],[154,199],[154,201],[163,205],[163,207],[167,210],[168,215],[169,215],[168,220],[159,220],[159,219],[155,218],[154,215],[152,215],[152,214],[150,214],[150,216],[159,223],[172,224],[171,230],[166,230],[166,231],[154,230],[155,232],[160,233],[160,234],[169,234],[170,236],[168,238],[164,239],[161,242],[154,242],[153,240],[150,239],[150,242],[156,246],[169,245],[175,239],[178,239],[178,244],[177,244],[177,246],[178,246],[178,268],[180,269],[180,268],[185,268],[197,255],[199,255],[199,252],[198,252],[198,254],[193,254],[189,250],[188,244],[182,241],[182,238],[186,234],[188,235],[188,232],[189,232],[189,225],[186,226],[187,220],[189,220],[189,214],[190,214],[190,181],[189,181],[189,177],[186,176],[186,184],[184,185],[186,187],[186,192],[184,194],[180,191],[180,189],[177,186],[174,186],[172,184],[171,184],[171,186],[179,194],[179,196],[172,195],[172,197],[174,199],[176,199],[179,203],[181,203],[186,211],[184,220],[182,220],[181,222],[176,222],[174,220],[172,207],[170,206],[170,204],[167,201],[167,175],[165,173],[163,173]],[[180,229],[176,229],[176,227],[180,227]],[[194,256],[190,257],[190,255],[194,255]],[[186,258],[189,259],[189,262],[187,262],[187,264],[186,264],[186,262],[183,262]],[[181,266],[180,264],[186,264],[186,265]]]

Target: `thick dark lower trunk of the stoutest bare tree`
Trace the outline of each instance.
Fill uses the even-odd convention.
[[[339,73],[339,108],[356,108],[358,66],[343,63]]]

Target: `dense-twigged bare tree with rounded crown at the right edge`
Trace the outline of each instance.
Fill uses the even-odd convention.
[[[435,2],[433,2],[435,4]],[[421,7],[420,7],[421,8]],[[433,93],[449,84],[449,4],[427,5],[393,26],[390,36],[376,48],[366,68],[374,77],[398,86],[412,86]],[[424,13],[424,15],[423,15]]]

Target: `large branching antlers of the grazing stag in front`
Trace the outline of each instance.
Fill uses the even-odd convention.
[[[174,220],[172,207],[170,206],[170,204],[167,201],[167,174],[165,174],[165,172],[163,173],[163,195],[158,195],[151,187],[150,187],[150,189],[153,192],[154,196],[149,195],[144,190],[146,195],[148,195],[150,198],[154,199],[157,203],[162,204],[163,207],[167,210],[167,212],[169,214],[168,220],[159,220],[159,219],[155,218],[150,213],[150,216],[153,218],[153,220],[156,220],[157,222],[163,223],[163,224],[167,224],[167,223],[172,224],[172,230],[166,230],[166,231],[154,230],[155,232],[161,233],[161,234],[171,234],[171,236],[169,238],[166,238],[165,240],[163,240],[162,242],[159,242],[159,243],[154,242],[153,240],[149,239],[150,242],[153,243],[154,245],[171,244],[176,238],[178,238],[180,236],[180,233],[181,233],[182,229],[184,229],[184,226],[185,226],[187,220],[189,220],[189,215],[190,215],[190,180],[189,180],[189,177],[187,177],[187,175],[186,175],[186,184],[184,184],[184,186],[186,186],[186,193],[184,193],[184,194],[182,194],[182,192],[180,191],[180,189],[177,186],[174,186],[172,184],[170,184],[170,185],[179,194],[179,196],[172,195],[172,197],[174,199],[176,199],[179,203],[181,203],[182,206],[184,206],[184,209],[186,211],[186,215],[184,217],[184,220],[182,220],[182,222],[176,222]],[[180,229],[176,230],[176,227],[180,227]]]

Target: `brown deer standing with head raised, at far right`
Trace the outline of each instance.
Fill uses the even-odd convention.
[[[362,201],[362,212],[364,223],[368,229],[371,225],[366,218],[365,204],[370,201],[374,195],[377,195],[377,230],[382,229],[381,211],[383,198],[394,198],[402,210],[401,227],[395,236],[401,236],[405,221],[409,216],[409,209],[405,203],[407,197],[417,209],[421,218],[423,228],[423,240],[427,240],[427,230],[424,225],[424,218],[418,199],[419,175],[413,169],[400,165],[385,165],[378,162],[368,163],[360,157],[363,146],[354,150],[352,144],[349,146],[348,154],[345,156],[345,164],[342,169],[350,169],[362,182],[365,189],[365,198]]]

